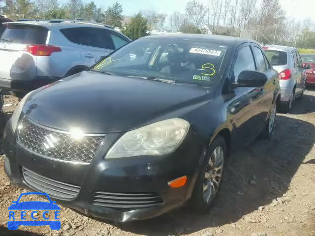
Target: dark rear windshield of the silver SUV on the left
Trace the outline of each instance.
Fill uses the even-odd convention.
[[[48,29],[38,26],[8,25],[1,35],[1,42],[45,44]]]

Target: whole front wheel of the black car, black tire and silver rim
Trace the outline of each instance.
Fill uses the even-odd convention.
[[[198,212],[207,211],[220,191],[227,148],[223,137],[214,139],[207,150],[202,169],[197,178],[190,205]]]

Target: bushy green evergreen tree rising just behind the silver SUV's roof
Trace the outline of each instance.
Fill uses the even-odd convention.
[[[139,12],[131,18],[131,22],[123,29],[123,33],[131,39],[141,38],[148,35],[148,21]]]

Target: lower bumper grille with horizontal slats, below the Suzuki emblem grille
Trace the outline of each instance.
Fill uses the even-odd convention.
[[[72,199],[77,196],[80,191],[80,186],[38,175],[24,167],[22,168],[22,172],[25,181],[31,187],[55,198]]]

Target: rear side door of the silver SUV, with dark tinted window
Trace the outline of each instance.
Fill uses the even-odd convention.
[[[72,43],[80,45],[84,65],[95,64],[97,56],[110,54],[115,44],[109,30],[96,27],[76,27],[61,29],[63,35]]]

